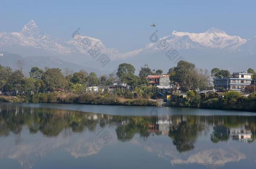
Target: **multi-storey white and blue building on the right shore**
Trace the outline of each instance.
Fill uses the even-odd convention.
[[[251,84],[252,74],[247,71],[235,73],[234,77],[214,78],[214,88],[218,90],[242,91]]]

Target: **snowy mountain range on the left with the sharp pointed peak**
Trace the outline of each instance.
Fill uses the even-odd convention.
[[[81,41],[89,40],[90,46],[83,48]],[[117,57],[119,55],[118,50],[112,48],[106,48],[101,40],[76,35],[68,42],[62,41],[51,35],[45,34],[34,20],[30,20],[20,32],[14,33],[0,33],[0,50],[14,50],[13,53],[19,53],[21,55],[72,55],[72,53],[81,53],[86,56],[89,54],[87,51],[96,46],[100,49],[101,53],[109,56],[110,58]],[[27,51],[27,53],[26,53]],[[33,51],[33,52],[31,52]]]

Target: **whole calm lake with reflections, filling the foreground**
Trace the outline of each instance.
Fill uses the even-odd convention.
[[[0,103],[1,169],[255,168],[256,113]]]

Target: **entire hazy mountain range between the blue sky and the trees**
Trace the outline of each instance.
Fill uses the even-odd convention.
[[[47,35],[31,20],[20,32],[0,33],[0,53],[5,52],[4,56],[0,56],[0,64],[15,68],[17,59],[23,59],[27,71],[30,69],[29,66],[41,68],[65,66],[74,71],[85,69],[96,71],[98,74],[107,74],[118,64],[126,62],[133,64],[136,69],[148,64],[151,68],[166,72],[175,66],[177,59],[182,56],[184,60],[195,63],[197,67],[209,70],[213,67],[231,71],[256,68],[256,37],[243,39],[237,35],[227,35],[223,30],[210,28],[204,33],[173,31],[170,35],[160,38],[157,36],[157,31],[160,30],[152,29],[149,43],[143,48],[119,53],[115,48],[106,48],[99,39],[79,34],[69,41],[63,41]],[[84,48],[81,45],[83,40],[90,41],[91,44]],[[175,49],[178,52],[177,57],[173,59],[167,57],[167,50],[159,47],[163,40],[168,49]],[[101,54],[110,58],[110,62],[104,67],[97,58],[93,58],[88,53],[88,50],[95,46]],[[20,56],[14,57],[11,53]]]

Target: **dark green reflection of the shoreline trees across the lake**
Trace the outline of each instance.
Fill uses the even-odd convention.
[[[8,136],[10,132],[18,136],[24,125],[29,127],[31,134],[39,131],[45,136],[57,136],[66,129],[71,129],[72,132],[83,132],[86,129],[95,131],[97,124],[102,128],[112,125],[117,126],[116,134],[120,141],[130,141],[135,134],[147,139],[150,133],[159,135],[169,132],[177,149],[188,151],[194,148],[198,134],[207,126],[211,126],[210,124],[214,124],[210,138],[212,142],[228,140],[230,131],[227,129],[243,125],[252,131],[250,141],[255,138],[254,116],[112,116],[13,105],[2,105],[0,108],[0,136]],[[165,121],[169,121],[168,124]]]

